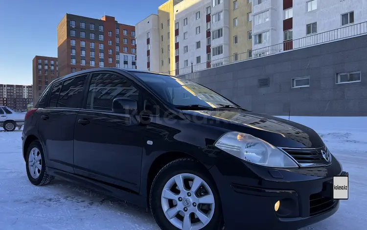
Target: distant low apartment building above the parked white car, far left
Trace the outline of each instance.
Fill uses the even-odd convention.
[[[23,112],[27,111],[27,104],[32,102],[32,98],[32,86],[0,84],[0,106]]]

